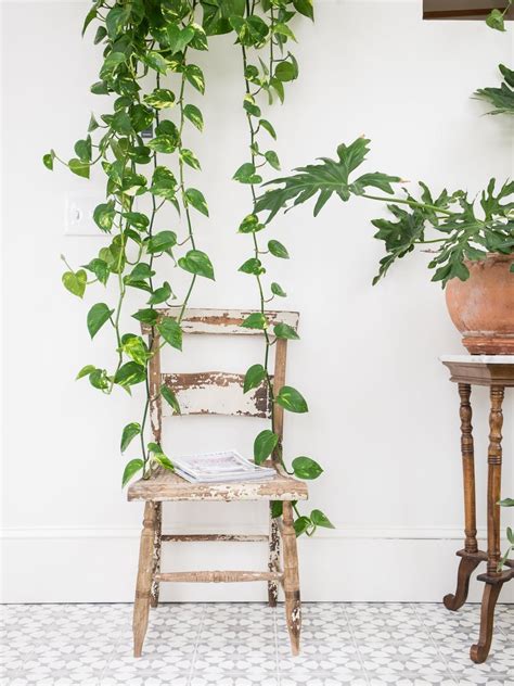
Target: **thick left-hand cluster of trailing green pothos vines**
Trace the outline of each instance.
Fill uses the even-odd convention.
[[[82,297],[86,288],[97,283],[105,288],[111,277],[116,280],[117,302],[113,306],[97,303],[87,316],[92,339],[104,325],[111,325],[116,344],[114,369],[86,365],[77,379],[88,378],[93,388],[107,395],[116,388],[130,393],[133,385],[144,384],[146,398],[141,421],[127,424],[120,442],[124,453],[139,436],[141,457],[127,462],[123,485],[138,472],[150,477],[154,463],[172,469],[160,445],[145,442],[149,363],[160,339],[160,347],[182,348],[180,323],[195,281],[197,277],[214,279],[209,257],[196,247],[192,219],[192,209],[208,216],[207,204],[200,190],[187,186],[185,178],[185,166],[200,169],[200,163],[183,144],[184,124],[189,120],[201,130],[203,127],[201,111],[185,102],[187,86],[201,93],[205,90],[202,69],[188,61],[190,51],[207,49],[206,33],[195,23],[195,9],[194,0],[130,0],[115,4],[97,0],[82,30],[83,34],[93,21],[98,22],[94,43],[104,48],[100,80],[91,86],[91,92],[116,96],[114,112],[102,114],[100,120],[91,116],[87,137],[75,143],[76,157],[66,162],[53,150],[43,157],[49,169],[59,162],[89,178],[91,168],[100,165],[106,177],[106,199],[94,209],[93,218],[101,231],[112,236],[112,241],[79,269],[74,270],[66,263],[63,283],[70,293]],[[175,77],[178,97],[177,89],[160,85],[168,75]],[[154,87],[143,93],[151,79]],[[178,124],[164,117],[172,109],[178,112]],[[146,142],[143,131],[151,135]],[[178,180],[170,166],[160,162],[160,155],[174,155]],[[144,173],[146,169],[150,172]],[[150,202],[150,209],[136,207],[137,199]],[[178,220],[185,217],[185,236],[180,242],[176,231],[157,229],[159,211],[167,203],[176,208]],[[180,268],[191,275],[176,318],[162,316],[157,310],[157,306],[169,306],[170,301],[177,300],[169,281],[156,281],[155,262],[159,257],[167,258],[168,269]],[[123,330],[128,289],[146,293],[146,306],[140,307],[132,318],[149,327],[149,343],[141,335]],[[175,412],[180,412],[172,391],[163,386],[162,395]]]

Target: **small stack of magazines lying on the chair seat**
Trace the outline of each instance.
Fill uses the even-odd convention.
[[[236,450],[174,457],[172,462],[176,473],[191,483],[266,481],[277,474],[273,468],[259,467]]]

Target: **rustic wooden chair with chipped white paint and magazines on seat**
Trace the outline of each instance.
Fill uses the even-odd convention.
[[[178,314],[176,308],[159,312],[167,316],[177,316]],[[195,334],[262,335],[262,331],[258,329],[241,327],[242,321],[249,314],[249,312],[239,310],[189,309],[182,319],[182,329],[184,333]],[[268,312],[267,319],[270,325],[284,322],[295,330],[298,326],[297,313]],[[272,331],[272,328],[270,331]],[[285,382],[287,341],[285,339],[277,339],[274,345],[273,389],[277,394]],[[158,351],[158,348],[157,340],[154,341],[154,350]],[[176,393],[182,415],[214,414],[269,418],[272,414],[274,431],[280,436],[279,445],[282,444],[284,410],[278,404],[273,404],[271,407],[266,384],[250,393],[243,394],[243,374],[224,372],[162,373],[158,352],[153,356],[150,367],[151,424],[156,443],[160,443],[162,439],[163,405],[160,402],[160,385],[165,384]],[[208,394],[209,388],[211,389],[213,385],[217,386],[216,397],[219,402],[217,407],[208,407],[205,401],[202,401],[202,391],[206,391],[206,394]],[[301,606],[292,501],[307,499],[307,485],[284,473],[274,455],[270,461],[277,470],[277,475],[270,481],[194,484],[189,483],[169,470],[159,468],[152,473],[150,479],[141,479],[129,487],[129,500],[145,501],[133,607],[134,657],[140,657],[142,653],[150,606],[156,607],[158,604],[160,582],[242,581],[268,582],[268,600],[271,607],[277,606],[279,583],[283,586],[291,649],[293,655],[298,655]],[[269,533],[266,535],[163,534],[162,504],[163,501],[171,500],[266,500],[269,504],[270,511]],[[273,518],[271,516],[272,501],[283,503],[281,517]],[[160,572],[160,544],[163,542],[184,541],[268,541],[268,571]],[[281,547],[283,547],[282,568],[280,564]]]

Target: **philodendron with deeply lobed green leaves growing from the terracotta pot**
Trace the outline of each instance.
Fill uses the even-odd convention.
[[[316,199],[314,216],[332,196],[343,202],[360,196],[382,203],[391,216],[372,220],[377,229],[374,238],[383,241],[386,252],[373,284],[397,259],[417,246],[431,247],[432,280],[442,287],[449,279],[465,281],[470,277],[466,261],[483,259],[488,252],[514,253],[514,181],[505,181],[497,190],[496,180],[491,179],[474,198],[463,190],[444,190],[436,194],[420,182],[420,193],[414,195],[402,187],[398,176],[381,172],[357,175],[369,152],[369,143],[365,138],[358,138],[349,145],[342,143],[336,158],[321,157],[318,164],[299,167],[296,174],[268,182],[257,199],[256,212],[268,213],[264,219],[268,223],[284,207],[287,211],[310,199]],[[398,186],[402,187],[401,194],[395,194]],[[506,498],[500,505],[512,507],[514,500]],[[506,530],[506,537],[510,547],[500,568],[514,550],[511,528]]]

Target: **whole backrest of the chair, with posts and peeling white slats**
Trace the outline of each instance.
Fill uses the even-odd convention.
[[[180,307],[158,309],[159,315],[177,318]],[[223,335],[264,335],[261,329],[247,329],[242,322],[256,310],[239,309],[187,309],[181,328],[184,334],[223,334]],[[295,312],[265,313],[268,321],[268,334],[274,338],[273,326],[287,323],[295,331],[298,328],[299,314]],[[150,327],[143,325],[143,333],[150,333]],[[285,383],[287,340],[277,339],[272,385],[273,393]],[[268,418],[273,415],[274,431],[282,442],[284,410],[277,403],[271,407],[268,385],[262,382],[257,389],[244,394],[244,373],[205,371],[189,373],[164,373],[160,370],[159,334],[154,329],[150,360],[150,417],[154,440],[160,443],[163,402],[160,386],[169,388],[177,396],[182,415],[231,415],[240,417]],[[165,404],[166,408],[168,404]],[[171,412],[172,414],[172,412]]]

